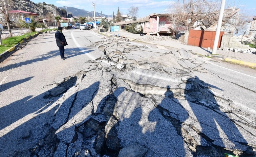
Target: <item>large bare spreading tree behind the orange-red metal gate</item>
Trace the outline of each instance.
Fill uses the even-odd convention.
[[[179,29],[186,26],[188,30],[200,27],[201,29],[215,29],[219,18],[220,1],[211,0],[183,0],[177,1],[169,10],[168,21],[173,25],[172,29]],[[224,11],[222,26],[224,29],[235,30],[237,24],[236,13],[239,9],[231,8],[227,3]],[[210,28],[209,28],[210,27]]]

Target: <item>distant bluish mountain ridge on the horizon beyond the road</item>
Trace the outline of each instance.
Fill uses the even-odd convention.
[[[65,6],[58,7],[58,8],[66,10]],[[92,17],[92,13],[93,13],[93,11],[87,11],[85,9],[77,9],[77,8],[74,8],[74,7],[67,7],[67,9],[68,9],[68,12],[71,12],[73,16],[77,16],[78,18],[79,17],[87,17],[88,16],[88,12],[89,12],[89,17]],[[94,13],[93,13],[93,16],[94,16]],[[95,16],[96,17],[101,17],[101,13],[95,12]],[[103,13],[102,13],[102,16],[108,17],[108,15],[103,14]]]

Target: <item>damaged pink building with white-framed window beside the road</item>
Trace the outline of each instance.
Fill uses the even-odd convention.
[[[169,29],[172,24],[167,20],[169,16],[170,14],[149,15],[147,21],[139,22],[143,27],[143,33],[148,35],[173,35]]]

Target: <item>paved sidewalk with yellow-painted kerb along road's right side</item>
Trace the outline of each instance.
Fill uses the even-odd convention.
[[[119,34],[120,37],[126,37],[126,38],[132,38],[137,39],[138,41],[141,41],[141,38],[146,38],[148,35],[140,36],[139,34],[132,34],[129,32],[119,31],[119,32],[110,32],[109,34]],[[159,40],[159,41],[141,41],[149,44],[157,44],[162,46],[169,46],[176,49],[187,49],[192,50],[194,53],[200,54],[200,55],[207,55],[211,54],[212,50],[207,50],[206,48],[197,47],[197,46],[191,46],[191,45],[185,45],[181,43],[178,40]],[[233,51],[223,51],[223,50],[217,50],[217,55],[214,55],[215,57],[223,58],[225,61],[231,61],[238,64],[247,65],[250,67],[256,67],[256,55],[255,54],[243,54],[239,52],[233,52]],[[248,62],[248,63],[247,63]]]

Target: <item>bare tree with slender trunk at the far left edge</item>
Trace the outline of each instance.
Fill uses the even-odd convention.
[[[8,27],[8,31],[9,31],[9,35],[10,37],[12,37],[11,34],[11,27],[10,27],[10,11],[11,11],[11,6],[12,6],[12,0],[0,0],[1,6],[0,7],[0,13],[2,13],[4,15],[4,20],[7,23],[7,27]]]

